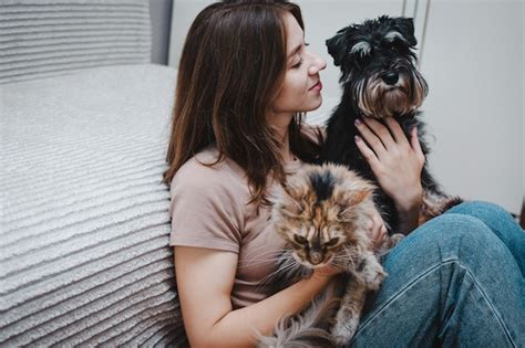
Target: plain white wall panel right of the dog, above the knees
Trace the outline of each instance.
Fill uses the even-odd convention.
[[[523,2],[432,1],[422,60],[433,171],[450,192],[518,213],[524,194]]]

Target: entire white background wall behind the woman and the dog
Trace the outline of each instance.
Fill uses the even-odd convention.
[[[186,32],[206,0],[175,0],[169,65],[176,66]],[[337,105],[339,70],[325,41],[351,22],[379,14],[416,13],[424,29],[421,70],[430,86],[422,106],[433,154],[431,169],[445,189],[488,200],[518,213],[525,193],[523,134],[524,2],[522,0],[299,0],[306,41],[328,64],[321,73],[325,104],[309,119]],[[404,6],[404,7],[403,7]]]

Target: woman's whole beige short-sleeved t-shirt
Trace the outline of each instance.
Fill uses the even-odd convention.
[[[207,148],[184,164],[171,184],[172,233],[169,245],[215,249],[238,254],[231,292],[234,309],[257,303],[270,294],[265,281],[276,271],[275,257],[282,240],[268,223],[270,210],[247,204],[251,196],[244,170],[225,158],[213,167],[218,151]],[[285,164],[292,173],[302,166]],[[267,194],[271,194],[271,183]]]

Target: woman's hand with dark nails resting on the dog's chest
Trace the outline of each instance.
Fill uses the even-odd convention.
[[[412,129],[409,144],[394,118],[385,118],[388,127],[370,117],[364,118],[364,122],[357,122],[356,126],[366,141],[357,136],[356,144],[381,189],[393,199],[400,213],[419,210],[423,193],[421,171],[425,157],[418,139],[418,129]]]

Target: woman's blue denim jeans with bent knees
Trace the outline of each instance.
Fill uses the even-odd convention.
[[[383,262],[354,347],[525,347],[525,232],[502,208],[454,207]]]

